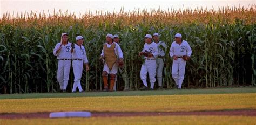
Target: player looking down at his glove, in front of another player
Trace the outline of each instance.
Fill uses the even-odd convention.
[[[157,56],[158,47],[157,44],[152,42],[151,34],[146,34],[145,36],[145,44],[142,52],[139,52],[139,56],[144,55],[145,62],[142,65],[140,70],[140,79],[143,81],[143,87],[140,90],[147,89],[147,72],[149,72],[150,77],[150,90],[154,89],[154,82],[156,82],[156,70],[157,70]]]

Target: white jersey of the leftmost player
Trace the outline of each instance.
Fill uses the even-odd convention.
[[[71,43],[68,42],[66,45],[62,45],[62,49],[59,53],[56,53],[58,48],[60,47],[60,43],[56,44],[55,48],[53,49],[53,55],[57,56],[57,59],[71,59],[72,54],[70,53]]]

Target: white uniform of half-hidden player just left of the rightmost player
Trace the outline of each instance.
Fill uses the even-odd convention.
[[[167,49],[167,46],[164,43],[164,41],[159,41],[157,45],[158,45],[158,52],[159,52],[159,56],[157,58],[157,82],[158,82],[158,86],[162,86],[163,68],[164,68],[164,61],[165,61],[164,57],[165,57],[165,51]]]

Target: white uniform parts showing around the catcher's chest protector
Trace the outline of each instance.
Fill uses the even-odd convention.
[[[107,47],[111,47],[112,44],[116,44],[116,47],[114,48],[114,53],[116,54],[117,58],[123,58],[123,52],[121,50],[121,47],[116,43],[113,42],[112,44],[105,43]],[[102,49],[102,54],[101,56],[104,57],[104,48]],[[106,62],[104,63],[103,71],[106,71],[107,74],[117,74],[118,66],[117,63],[114,63],[112,69],[109,69],[109,66],[107,66]]]

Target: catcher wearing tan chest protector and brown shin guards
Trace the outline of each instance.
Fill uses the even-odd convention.
[[[106,43],[103,45],[102,54],[100,54],[100,60],[104,62],[104,68],[102,72],[104,90],[113,91],[114,81],[118,70],[118,64],[123,63],[123,52],[120,46],[113,42],[113,35],[107,34]],[[110,74],[110,87],[107,83],[107,75]]]

